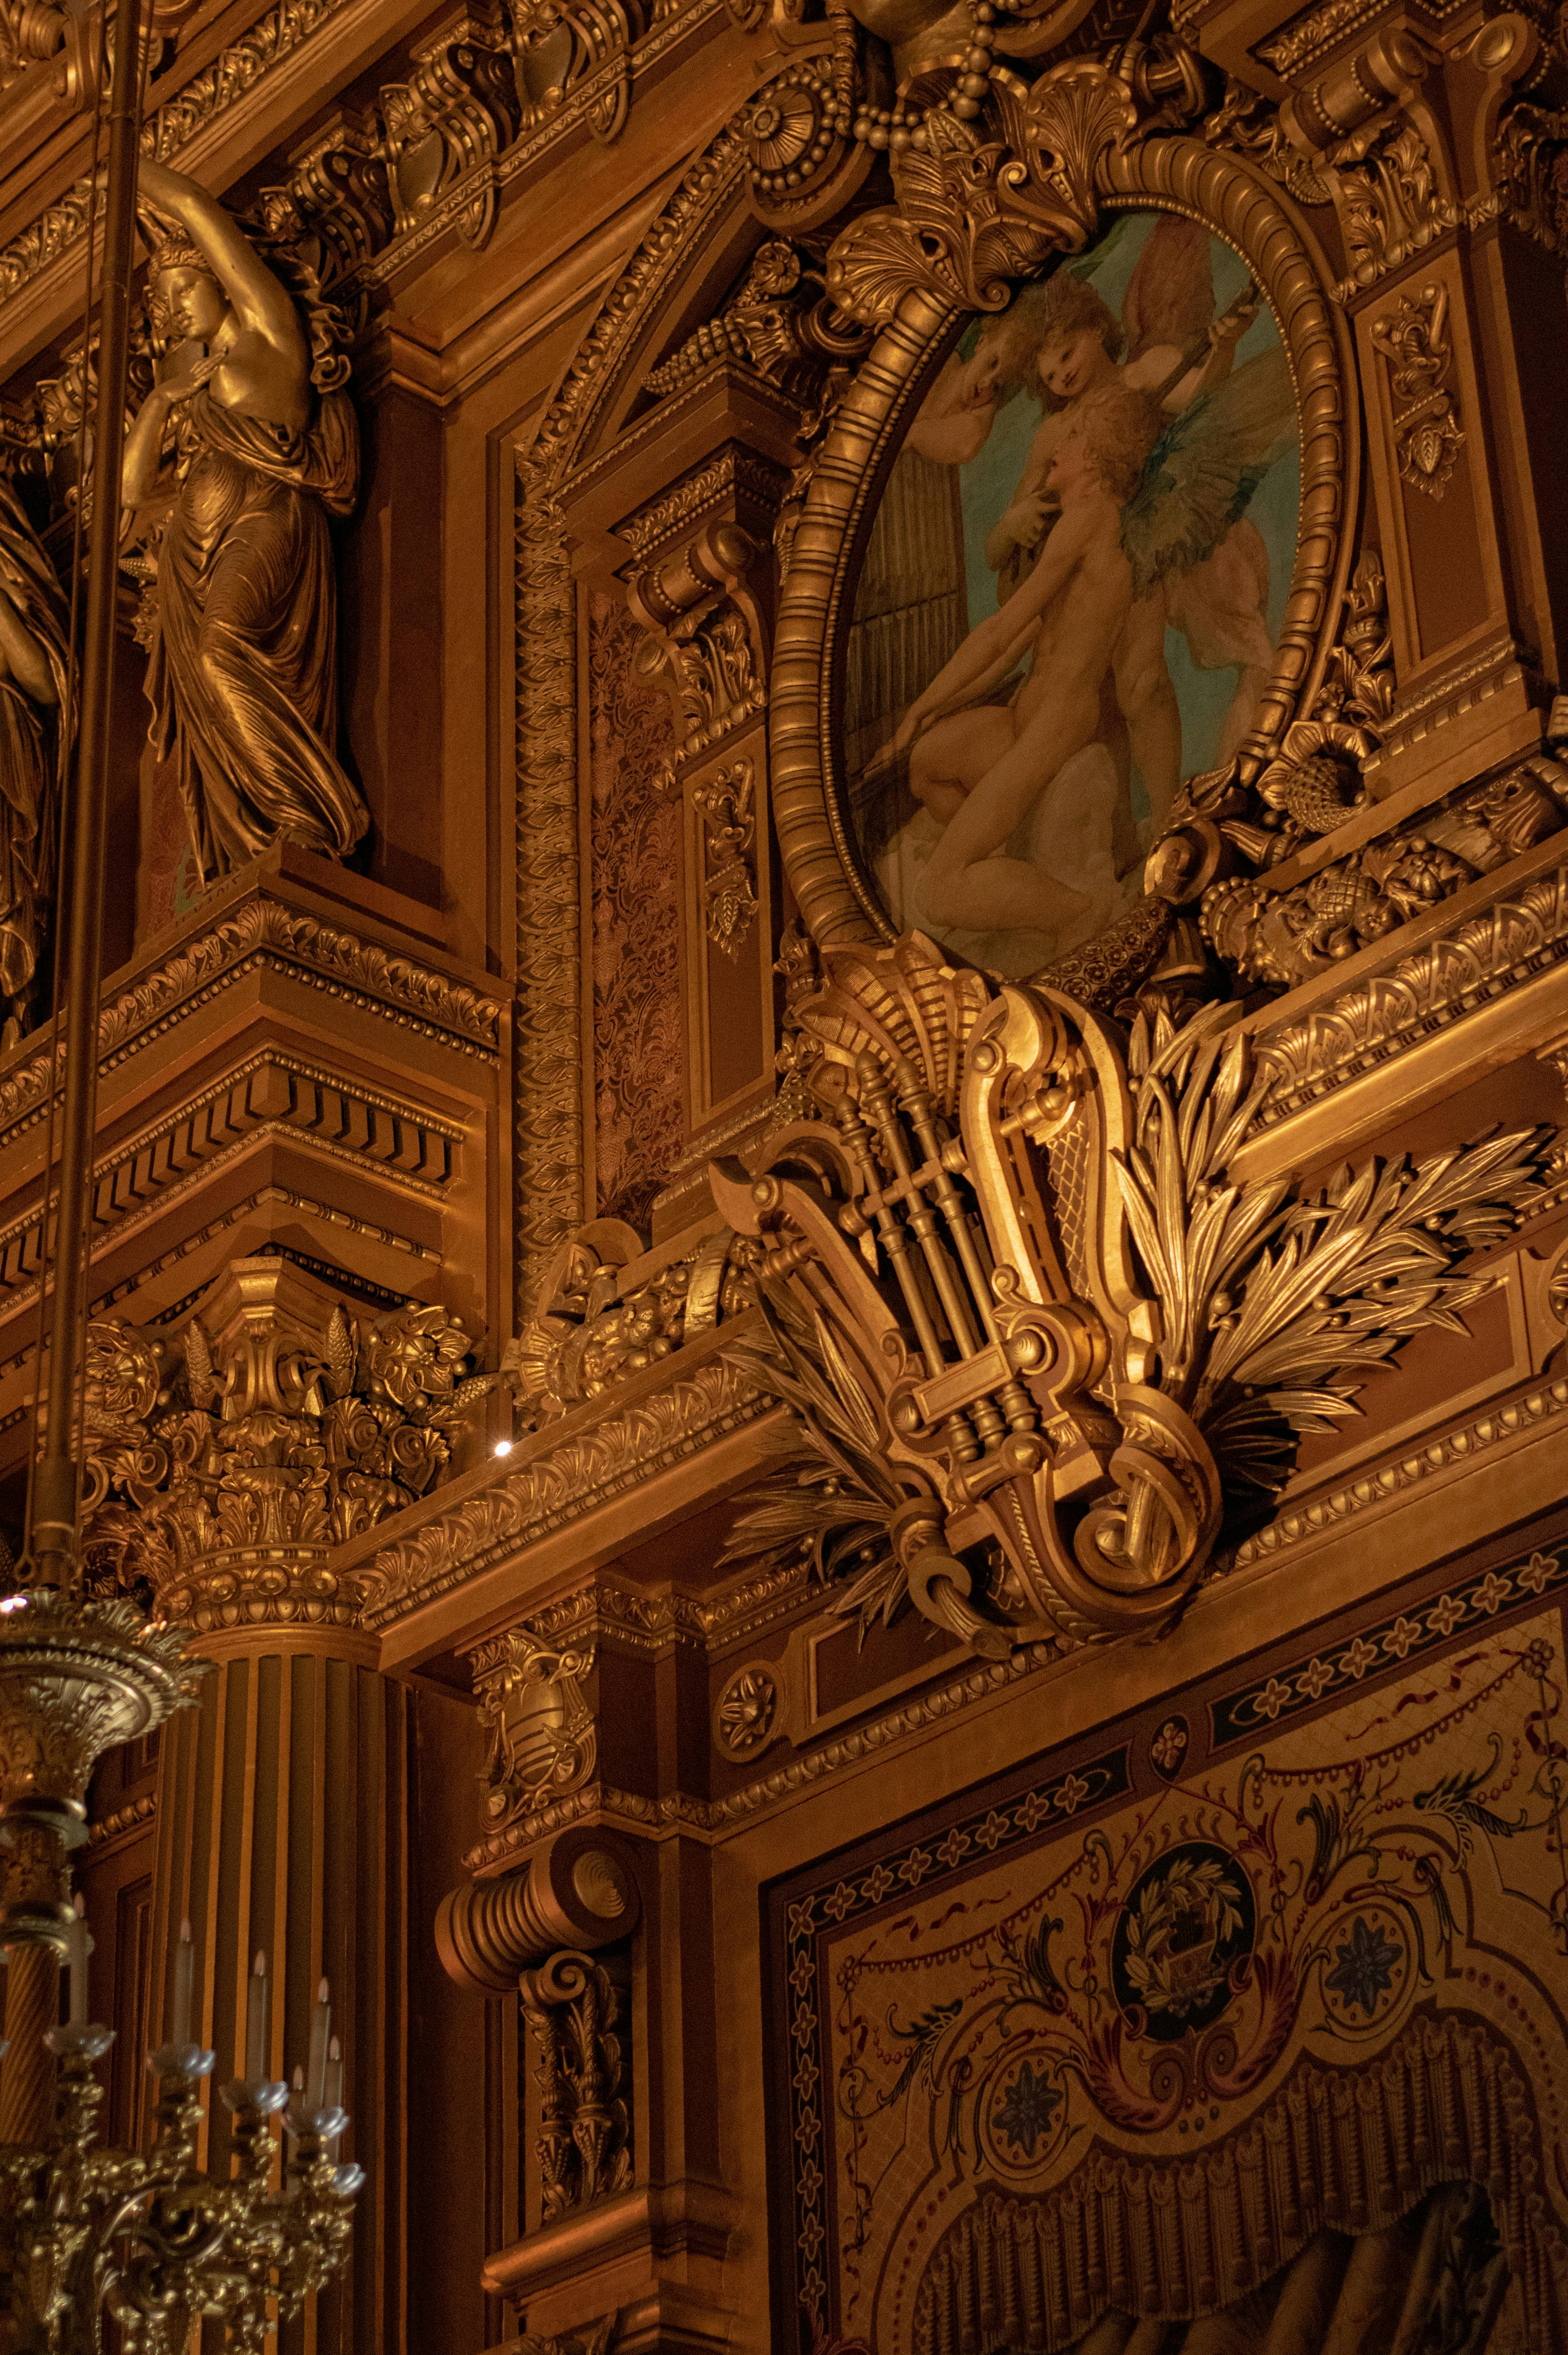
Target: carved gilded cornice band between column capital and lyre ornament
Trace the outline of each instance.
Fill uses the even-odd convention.
[[[610,1498],[687,1462],[727,1432],[772,1411],[772,1399],[723,1356],[709,1356],[645,1397],[577,1432],[551,1432],[527,1462],[492,1486],[438,1510],[424,1528],[377,1552],[363,1575],[365,1627],[466,1585],[553,1531],[584,1521]]]

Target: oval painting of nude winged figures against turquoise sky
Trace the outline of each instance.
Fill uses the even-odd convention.
[[[1128,214],[970,327],[895,462],[850,648],[852,803],[899,923],[1022,975],[1137,897],[1182,775],[1267,685],[1295,450],[1274,320],[1191,221]]]

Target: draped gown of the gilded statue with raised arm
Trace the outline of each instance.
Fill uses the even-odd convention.
[[[278,836],[341,860],[370,824],[332,751],[327,516],[348,513],[358,469],[346,393],[323,396],[297,436],[224,407],[205,384],[181,412],[146,692],[202,876],[242,867]]]

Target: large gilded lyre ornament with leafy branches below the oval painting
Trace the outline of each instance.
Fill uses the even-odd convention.
[[[711,1173],[768,1246],[732,1354],[793,1408],[730,1554],[808,1543],[862,1627],[911,1597],[982,1653],[1165,1620],[1363,1371],[1462,1331],[1554,1142],[1236,1180],[1271,1076],[1229,1008],[1123,1043],[918,933],[824,949],[796,1020],[826,1116]]]

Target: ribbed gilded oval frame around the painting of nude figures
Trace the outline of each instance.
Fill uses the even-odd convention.
[[[1224,238],[1262,287],[1290,363],[1302,504],[1274,676],[1248,737],[1262,763],[1311,709],[1349,577],[1361,457],[1349,424],[1349,334],[1295,210],[1241,158],[1189,137],[1109,146],[1092,198],[1095,233],[1111,212],[1151,210],[1187,214]],[[862,535],[904,419],[970,316],[972,306],[923,285],[899,294],[826,433],[793,535],[770,678],[772,815],[800,921],[819,949],[897,940],[845,820],[831,704]]]

